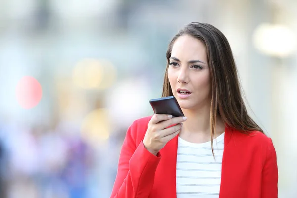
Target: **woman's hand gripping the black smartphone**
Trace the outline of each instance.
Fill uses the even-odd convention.
[[[172,118],[172,115],[154,114],[148,123],[148,130],[143,140],[145,148],[157,155],[169,140],[179,134],[183,125],[182,122],[186,119],[186,117]]]

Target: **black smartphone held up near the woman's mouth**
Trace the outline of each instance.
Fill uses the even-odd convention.
[[[149,103],[155,114],[168,114],[173,117],[184,116],[184,113],[174,96],[151,99],[149,100]]]

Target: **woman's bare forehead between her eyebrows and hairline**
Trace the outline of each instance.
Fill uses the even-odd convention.
[[[207,61],[207,53],[204,43],[188,35],[181,36],[174,42],[171,56],[176,57],[181,61],[193,59]]]

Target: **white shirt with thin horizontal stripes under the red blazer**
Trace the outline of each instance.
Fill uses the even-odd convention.
[[[224,151],[222,133],[211,142],[190,143],[178,138],[176,164],[177,198],[218,198]]]

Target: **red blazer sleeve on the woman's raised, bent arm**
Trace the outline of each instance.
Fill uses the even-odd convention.
[[[146,132],[144,125],[136,120],[127,130],[110,198],[148,198],[151,192],[161,155],[151,154],[142,139],[137,143],[137,134]]]

